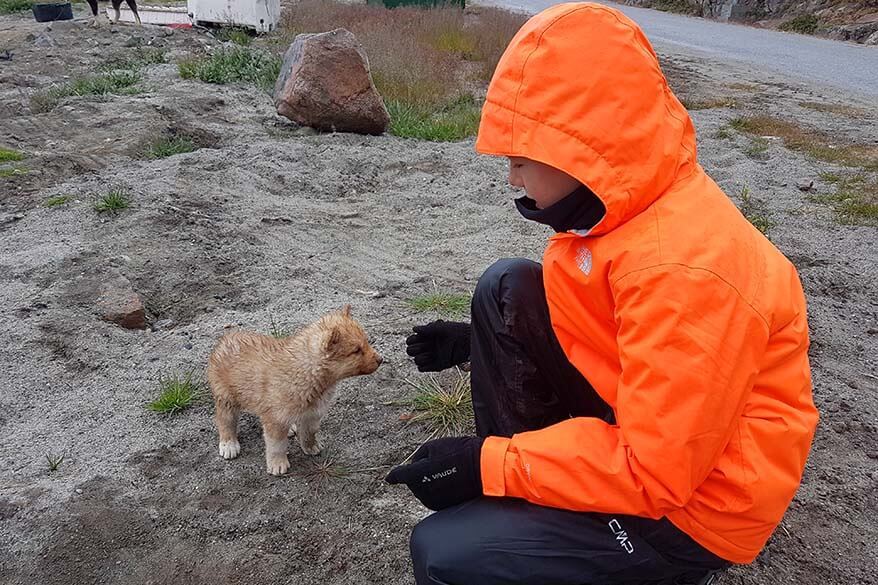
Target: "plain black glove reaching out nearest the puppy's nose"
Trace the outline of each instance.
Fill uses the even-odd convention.
[[[421,372],[438,372],[469,360],[469,323],[433,321],[412,329],[406,353],[415,358]]]

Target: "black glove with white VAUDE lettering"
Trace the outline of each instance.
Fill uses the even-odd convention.
[[[412,462],[390,470],[386,481],[404,483],[431,510],[482,495],[482,437],[446,437],[421,445]]]

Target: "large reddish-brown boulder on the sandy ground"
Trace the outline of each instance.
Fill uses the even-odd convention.
[[[318,130],[381,134],[390,116],[369,61],[343,28],[296,37],[274,87],[277,113]]]

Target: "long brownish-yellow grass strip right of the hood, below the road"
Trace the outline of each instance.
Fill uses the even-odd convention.
[[[861,167],[867,171],[878,171],[876,145],[839,144],[816,130],[766,115],[738,117],[729,125],[746,134],[762,137],[777,136],[790,150],[801,152],[813,159],[848,167]]]

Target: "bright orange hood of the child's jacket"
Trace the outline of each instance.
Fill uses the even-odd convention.
[[[518,31],[488,87],[476,150],[578,179],[607,209],[595,235],[697,168],[692,121],[646,36],[618,10],[592,3],[558,4]]]

